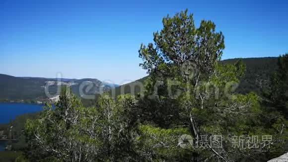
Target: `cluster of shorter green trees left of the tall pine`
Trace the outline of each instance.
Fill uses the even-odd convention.
[[[27,120],[26,156],[31,161],[56,158],[64,162],[133,159],[135,104],[133,96],[114,101],[104,95],[97,108],[85,108],[65,87],[55,109],[48,105],[38,119]]]

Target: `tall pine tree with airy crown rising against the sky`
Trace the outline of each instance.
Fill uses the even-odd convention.
[[[216,25],[210,20],[202,20],[197,28],[193,15],[187,10],[173,17],[168,15],[162,22],[163,29],[153,34],[154,43],[142,44],[139,50],[144,61],[140,66],[150,76],[145,82],[141,108],[148,111],[147,114],[159,113],[155,117],[160,119],[151,119],[157,126],[167,123],[164,126],[168,131],[162,131],[163,136],[176,127],[189,128],[189,135],[194,138],[192,161],[227,162],[259,157],[263,148],[232,147],[232,136],[261,136],[268,130],[262,130],[259,123],[259,97],[255,93],[233,93],[245,73],[245,66],[241,61],[234,65],[219,63],[224,49],[222,33],[216,31]],[[163,107],[163,103],[173,104]],[[173,120],[174,117],[178,120]],[[152,137],[157,137],[154,129],[148,130],[152,131]],[[220,135],[225,143],[219,148],[196,147],[201,144],[200,137],[209,139],[214,135]],[[156,146],[161,143],[150,145]],[[169,146],[163,146],[162,151],[165,147]],[[161,157],[162,151],[152,149],[145,155]],[[172,155],[171,152],[165,154],[166,158],[173,159]]]

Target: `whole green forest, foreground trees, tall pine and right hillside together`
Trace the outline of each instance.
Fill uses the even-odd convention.
[[[140,45],[147,77],[90,101],[63,86],[57,103],[0,126],[14,125],[18,139],[7,159],[266,162],[287,153],[288,54],[221,61],[214,22],[197,27],[184,10],[162,23]]]

